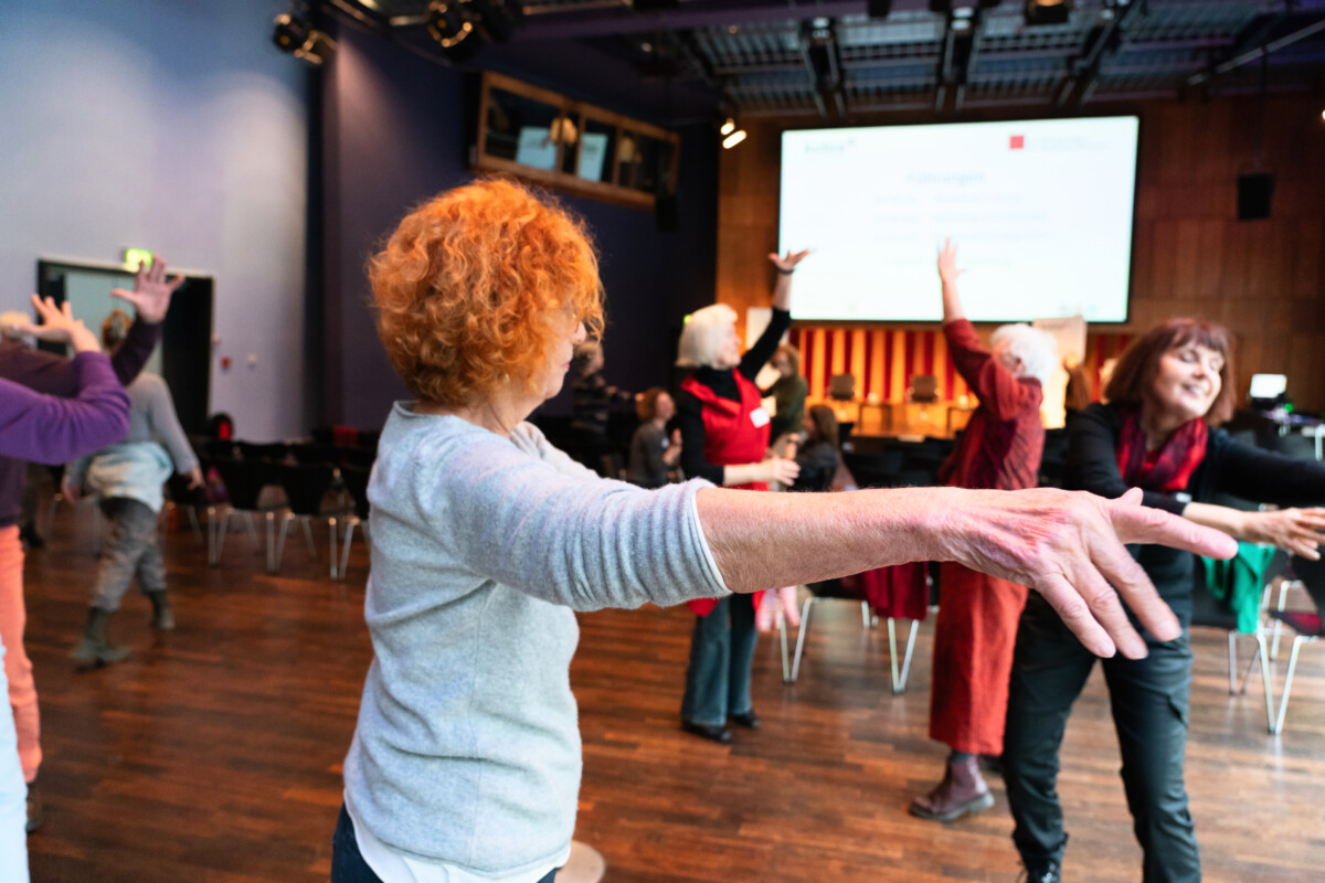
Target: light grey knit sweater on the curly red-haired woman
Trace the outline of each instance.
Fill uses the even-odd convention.
[[[396,404],[368,486],[375,658],[344,761],[374,837],[477,874],[567,849],[574,610],[726,594],[694,508],[705,486],[600,479],[529,424],[506,440]]]

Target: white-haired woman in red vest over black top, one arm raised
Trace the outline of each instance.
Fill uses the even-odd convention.
[[[716,303],[685,323],[676,364],[694,368],[694,373],[681,384],[676,413],[686,478],[766,491],[768,482],[790,485],[800,473],[792,459],[766,459],[770,417],[759,402],[754,377],[791,327],[791,274],[807,254],[768,256],[778,270],[772,319],[745,356],[731,307]],[[686,732],[726,743],[731,741],[729,718],[751,729],[759,725],[750,700],[757,604],[757,596],[749,594],[689,602],[698,618],[681,700],[681,728]]]

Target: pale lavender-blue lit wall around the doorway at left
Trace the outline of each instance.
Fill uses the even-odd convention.
[[[306,433],[317,387],[310,74],[272,45],[284,7],[0,1],[0,308],[29,308],[40,257],[114,263],[135,246],[215,275],[209,406],[254,441]]]

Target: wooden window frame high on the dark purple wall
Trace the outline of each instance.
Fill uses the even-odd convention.
[[[567,144],[563,139],[556,140],[556,159],[553,163],[551,169],[527,165],[525,163],[506,159],[504,156],[494,156],[488,152],[489,113],[492,107],[492,93],[494,89],[549,105],[559,111],[558,119],[568,119],[574,124],[576,132],[575,142],[574,144]],[[604,164],[611,167],[611,180],[604,181],[583,179],[578,173],[578,151],[584,143],[584,127],[588,120],[592,120],[599,127],[607,126],[612,128],[608,150],[610,155],[604,155],[603,158]],[[665,128],[660,128],[621,114],[615,114],[595,105],[574,101],[559,93],[531,86],[513,77],[485,71],[482,78],[482,94],[478,103],[478,127],[470,169],[476,172],[504,172],[563,193],[587,196],[604,203],[615,203],[629,208],[652,210],[656,201],[655,192],[635,189],[620,183],[620,155],[623,150],[623,136],[625,135],[652,138],[662,144],[670,146],[670,163],[666,163],[665,169],[660,169],[660,175],[664,176],[660,185],[665,188],[664,192],[674,193],[681,156],[681,136],[676,132],[670,132]],[[571,172],[563,171],[567,168],[567,150],[576,151],[574,162],[571,163]],[[599,177],[602,177],[602,172]]]

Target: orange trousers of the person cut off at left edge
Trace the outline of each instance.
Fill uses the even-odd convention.
[[[0,528],[0,641],[4,642],[4,674],[9,679],[9,707],[19,735],[23,778],[30,782],[41,767],[41,714],[32,662],[23,646],[28,609],[23,602],[23,543],[17,527]]]

